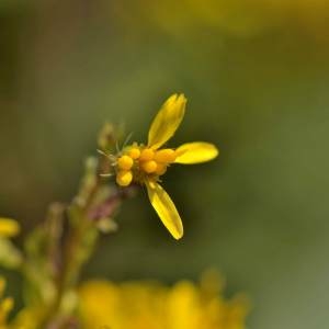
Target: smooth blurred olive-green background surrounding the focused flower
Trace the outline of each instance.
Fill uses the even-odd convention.
[[[145,140],[184,92],[171,145],[220,148],[166,175],[184,238],[141,192],[83,275],[171,283],[215,268],[251,296],[249,328],[327,328],[328,55],[327,0],[1,0],[1,215],[37,225],[75,194],[105,121]]]

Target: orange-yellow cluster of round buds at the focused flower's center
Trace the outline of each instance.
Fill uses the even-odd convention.
[[[149,179],[157,180],[175,158],[177,154],[171,148],[154,150],[134,144],[126,147],[117,158],[116,183],[128,186],[132,182],[144,183]]]

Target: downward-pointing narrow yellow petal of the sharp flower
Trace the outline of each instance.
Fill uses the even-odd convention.
[[[180,239],[183,236],[183,224],[174,203],[158,183],[147,182],[146,188],[149,201],[163,225],[175,239]]]

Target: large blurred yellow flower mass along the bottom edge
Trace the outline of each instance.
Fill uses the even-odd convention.
[[[206,279],[172,287],[150,282],[90,281],[79,291],[82,329],[243,329],[249,302],[223,297],[223,282]]]

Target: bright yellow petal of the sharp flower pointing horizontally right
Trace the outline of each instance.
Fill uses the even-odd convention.
[[[219,154],[215,145],[204,141],[186,143],[175,150],[175,163],[193,164],[213,160]]]

